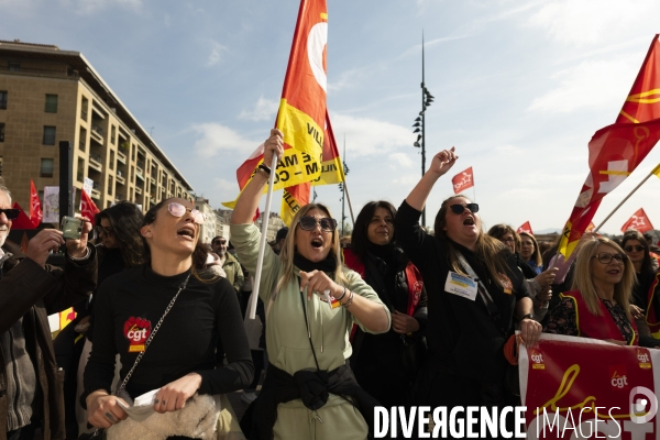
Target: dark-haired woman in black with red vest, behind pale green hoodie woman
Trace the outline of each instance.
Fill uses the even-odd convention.
[[[395,216],[396,208],[388,201],[370,201],[355,220],[351,249],[344,249],[345,265],[362,275],[392,312],[388,332],[358,329],[352,341],[355,378],[385,407],[407,404],[418,366],[409,362],[414,360],[408,349],[414,345],[410,351],[424,356],[428,320],[421,274],[395,242]]]

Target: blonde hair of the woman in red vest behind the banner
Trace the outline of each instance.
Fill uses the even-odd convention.
[[[586,308],[592,315],[603,316],[601,308],[598,307],[600,297],[594,286],[592,277],[592,261],[598,253],[598,245],[606,244],[614,249],[622,255],[626,255],[624,250],[616,244],[614,241],[604,237],[586,242],[582,249],[578,252],[575,261],[575,274],[573,276],[573,285],[571,286],[574,290],[580,290]],[[596,262],[596,264],[602,264]],[[628,257],[624,262],[624,276],[622,280],[614,286],[614,300],[618,302],[624,311],[628,321],[630,318],[630,297],[632,296],[632,287],[637,283],[637,275],[635,275],[635,266]]]

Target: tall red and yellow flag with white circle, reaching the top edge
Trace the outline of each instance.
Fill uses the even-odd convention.
[[[308,183],[321,175],[327,41],[326,0],[301,0],[277,113],[276,127],[284,133],[285,151],[273,170],[273,190]],[[260,148],[237,170],[241,190],[263,162],[263,146]],[[233,208],[234,204],[222,205]]]

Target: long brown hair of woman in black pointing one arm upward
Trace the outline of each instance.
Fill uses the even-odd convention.
[[[442,201],[442,206],[440,207],[440,210],[438,211],[438,215],[436,216],[436,221],[433,223],[433,228],[436,230],[436,239],[441,240],[449,244],[448,261],[449,261],[449,265],[451,266],[451,268],[453,268],[454,272],[465,275],[464,270],[459,264],[459,257],[453,249],[453,241],[447,235],[447,231],[444,230],[444,227],[447,226],[448,207],[452,200],[455,200],[459,198],[470,201],[470,199],[468,197],[465,197],[461,194],[458,196],[451,196],[451,197],[444,199],[444,201]],[[484,262],[484,265],[486,266],[488,273],[491,274],[491,277],[499,287],[502,287],[502,280],[501,280],[499,274],[509,273],[509,271],[506,267],[506,265],[504,264],[504,261],[502,257],[502,252],[504,252],[505,250],[507,250],[507,248],[504,245],[504,243],[502,243],[499,240],[484,233],[483,223],[481,223],[480,234],[479,234],[479,238],[476,239],[474,253],[480,258],[482,258],[482,261]]]

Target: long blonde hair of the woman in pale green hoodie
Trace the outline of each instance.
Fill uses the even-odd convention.
[[[296,212],[296,216],[294,216],[294,219],[292,220],[289,233],[286,234],[284,245],[282,246],[282,252],[279,253],[279,257],[284,263],[284,270],[282,278],[279,278],[279,280],[277,282],[277,286],[275,288],[276,292],[279,292],[294,278],[294,254],[296,253],[296,232],[299,227],[298,221],[300,220],[300,217],[306,216],[307,212],[311,211],[312,209],[321,210],[326,212],[328,217],[332,217],[328,207],[321,204],[306,205],[302,208],[300,208],[298,212]],[[336,264],[332,279],[337,284],[345,286],[348,284],[348,279],[344,275],[341,246],[339,244],[339,232],[337,231],[337,229],[332,231],[332,246],[330,248],[330,254],[334,257]]]

